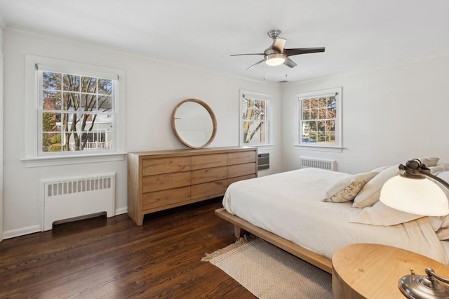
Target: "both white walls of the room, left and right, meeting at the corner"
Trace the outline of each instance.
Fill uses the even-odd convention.
[[[404,163],[414,157],[441,157],[449,162],[449,55],[280,85],[14,28],[4,31],[3,53],[4,238],[41,229],[41,178],[115,171],[116,209],[126,211],[126,161],[25,168],[20,159],[25,152],[26,54],[123,69],[127,152],[185,148],[171,131],[170,117],[177,103],[187,98],[203,100],[215,112],[218,130],[210,147],[239,145],[242,89],[273,95],[275,146],[260,150],[271,154],[269,170],[260,171],[260,175],[299,168],[300,155],[336,159],[338,170],[348,173]],[[293,147],[296,94],[337,86],[343,88],[344,150],[297,150]]]

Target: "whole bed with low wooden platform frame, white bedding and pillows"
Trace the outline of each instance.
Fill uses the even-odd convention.
[[[356,175],[303,168],[234,182],[215,213],[234,224],[236,237],[250,232],[329,273],[333,252],[352,243],[396,246],[448,265],[447,219],[378,201],[383,182],[396,174],[397,166]]]

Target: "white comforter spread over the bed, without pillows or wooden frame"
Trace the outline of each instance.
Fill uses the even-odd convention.
[[[223,206],[228,213],[328,258],[347,244],[375,243],[415,251],[448,265],[427,218],[392,226],[349,223],[360,208],[352,208],[351,202],[321,201],[326,189],[344,175],[349,176],[304,168],[234,182]]]

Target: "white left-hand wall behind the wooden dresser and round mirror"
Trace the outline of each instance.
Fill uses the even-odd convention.
[[[250,81],[123,53],[77,41],[21,29],[4,32],[4,237],[37,232],[41,224],[39,180],[83,173],[117,173],[116,209],[126,209],[126,161],[25,168],[25,55],[40,55],[126,72],[126,151],[185,148],[173,134],[170,117],[178,102],[198,98],[217,117],[217,135],[210,147],[239,145],[239,90],[269,93],[274,99],[272,168],[260,175],[281,171],[280,86]]]

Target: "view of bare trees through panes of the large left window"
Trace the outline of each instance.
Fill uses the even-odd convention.
[[[113,80],[42,72],[42,152],[112,150]]]

